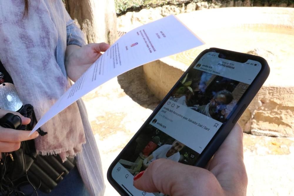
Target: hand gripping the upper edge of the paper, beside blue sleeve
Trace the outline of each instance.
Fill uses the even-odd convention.
[[[109,48],[107,43],[89,43],[83,47],[69,45],[66,47],[66,73],[72,81],[78,78]]]

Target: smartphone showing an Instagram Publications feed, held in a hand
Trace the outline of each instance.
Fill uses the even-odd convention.
[[[121,195],[158,195],[133,177],[159,158],[205,167],[268,77],[265,59],[219,48],[201,52],[110,165]]]

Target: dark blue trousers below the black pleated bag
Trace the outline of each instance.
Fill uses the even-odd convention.
[[[33,188],[31,185],[21,187],[21,192],[26,195],[31,195]],[[64,179],[52,190],[49,194],[37,191],[39,196],[48,195],[71,195],[71,196],[90,196],[86,186],[84,185],[82,178],[78,172],[77,167],[74,167]],[[33,195],[36,195],[34,193]]]

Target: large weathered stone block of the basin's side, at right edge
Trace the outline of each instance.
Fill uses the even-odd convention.
[[[294,88],[265,86],[255,96],[262,103],[251,108],[251,134],[294,137]]]

